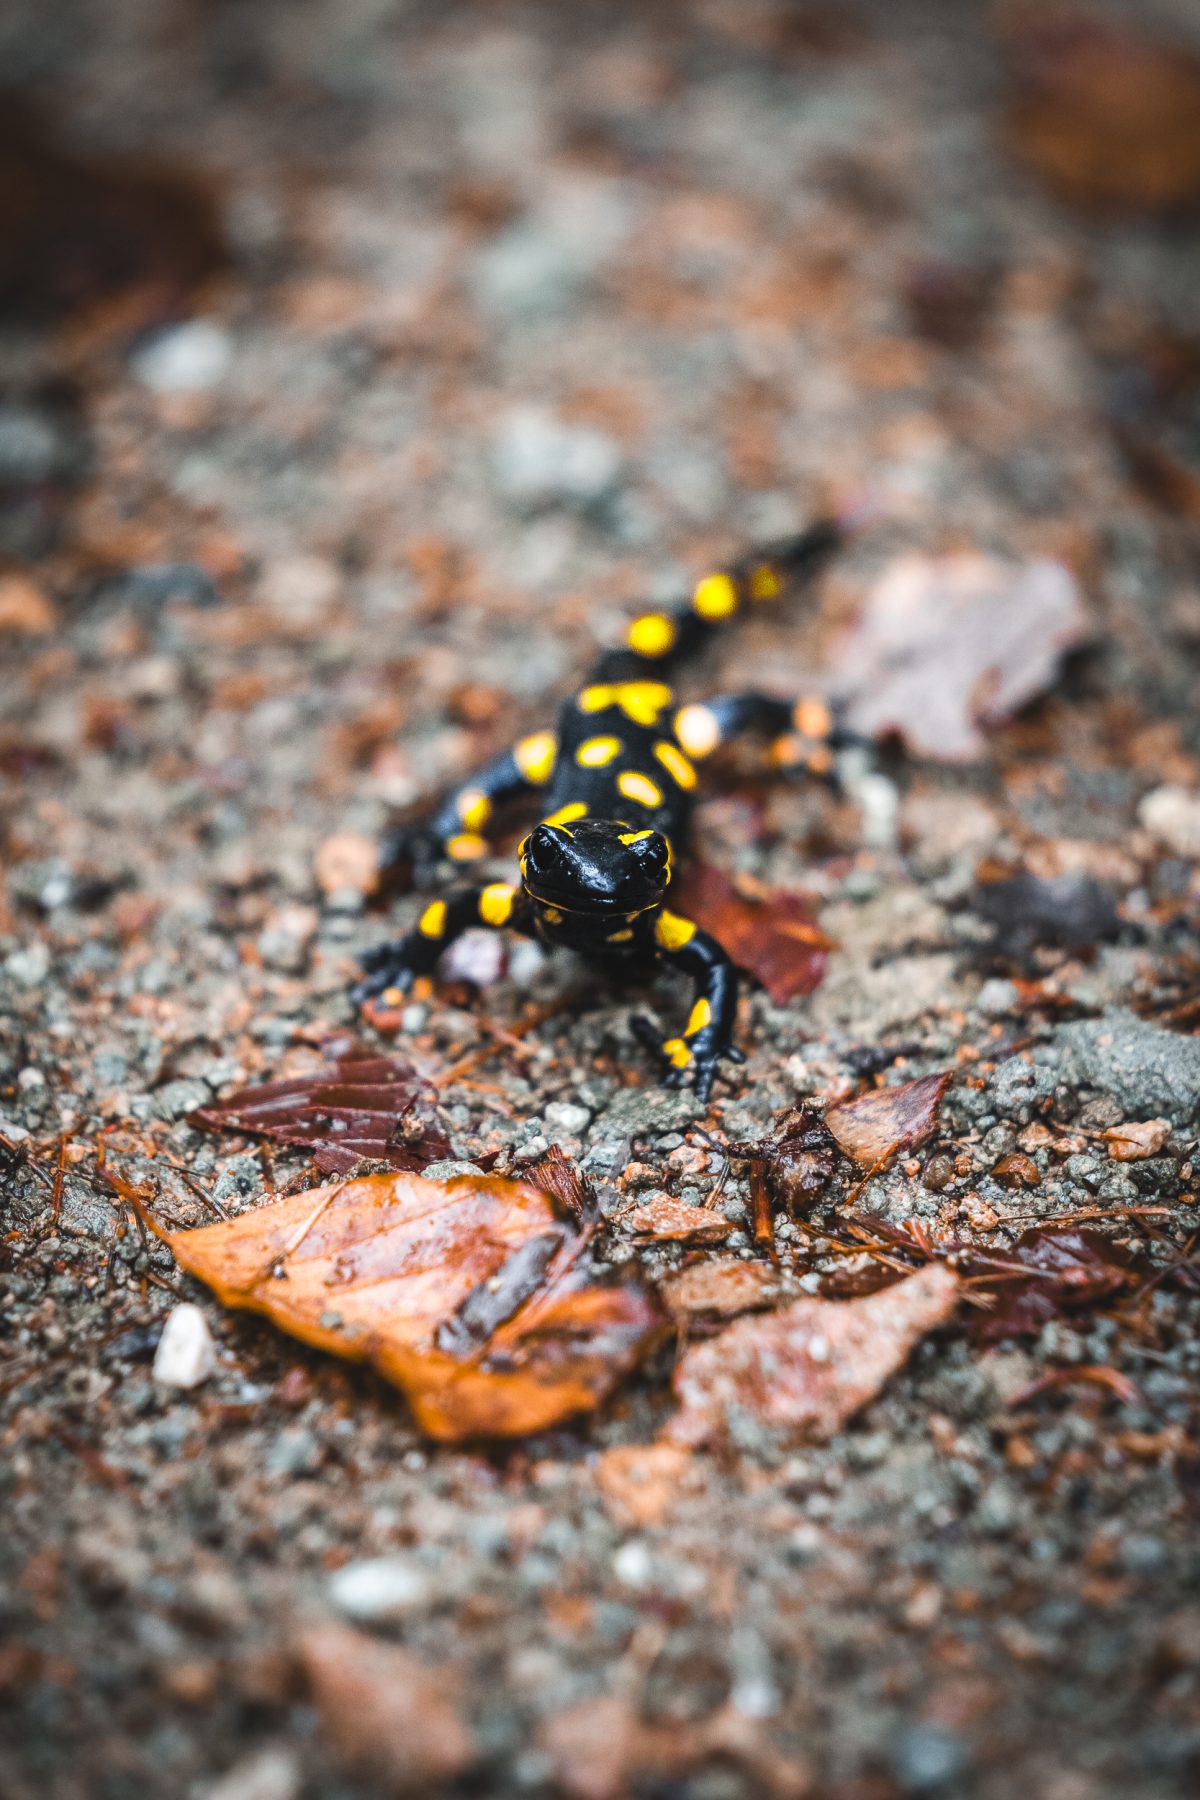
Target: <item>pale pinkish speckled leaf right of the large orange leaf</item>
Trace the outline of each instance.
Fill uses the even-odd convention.
[[[930,1264],[864,1300],[797,1300],[738,1319],[680,1361],[680,1409],[666,1436],[687,1445],[738,1442],[750,1426],[781,1444],[831,1438],[957,1300],[957,1276]]]

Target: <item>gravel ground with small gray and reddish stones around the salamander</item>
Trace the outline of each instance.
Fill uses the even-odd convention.
[[[1142,25],[1200,47],[1189,13]],[[979,758],[889,752],[871,817],[718,781],[705,853],[815,898],[817,992],[750,992],[707,1112],[626,1001],[525,949],[468,949],[405,1048],[435,1080],[488,1049],[441,1087],[455,1154],[560,1143],[608,1210],[707,1197],[700,1125],[757,1138],[885,1048],[885,1080],[955,1084],[862,1210],[993,1246],[1088,1211],[1166,1271],[1200,1229],[1200,596],[1105,410],[1195,329],[1195,232],[1038,182],[975,9],[79,0],[0,43],[36,108],[5,128],[29,211],[0,193],[32,257],[0,331],[5,1800],[1195,1793],[1187,1271],[990,1350],[941,1332],[792,1454],[664,1456],[675,1345],[596,1422],[448,1451],[223,1312],[95,1177],[103,1143],[198,1224],[196,1184],[241,1211],[302,1172],[185,1114],[311,1062],[414,916],[318,880],[322,846],[353,862],[542,724],[639,596],[869,486],[820,605],[696,693],[811,679],[907,551],[1069,562],[1090,646]],[[151,203],[151,164],[200,185]],[[40,234],[50,203],[119,254]],[[1094,877],[1115,934],[1007,954],[981,864]],[[1115,1161],[1148,1118],[1157,1154]],[[779,1213],[792,1287],[849,1188]],[[750,1260],[743,1166],[720,1206]],[[191,1391],[151,1375],[178,1300],[218,1352]],[[1135,1397],[1022,1399],[1076,1364]]]

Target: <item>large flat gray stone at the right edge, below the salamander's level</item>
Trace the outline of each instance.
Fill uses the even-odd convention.
[[[1110,1094],[1123,1118],[1200,1121],[1200,1039],[1114,1012],[1063,1026],[1058,1044],[1063,1078]]]

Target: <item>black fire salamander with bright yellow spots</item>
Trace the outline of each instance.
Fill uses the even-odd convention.
[[[815,524],[711,571],[687,603],[640,614],[624,646],[561,707],[554,731],[522,738],[452,794],[428,828],[398,833],[385,866],[410,862],[423,886],[441,859],[470,864],[489,853],[486,832],[498,806],[536,799],[542,810],[520,846],[520,886],[477,882],[430,900],[416,931],[363,958],[353,999],[403,994],[473,925],[563,945],[613,972],[666,965],[694,985],[684,1030],[658,1042],[648,1019],[633,1019],[633,1028],[660,1058],[667,1085],[693,1084],[707,1100],[721,1058],[745,1057],[732,1044],[734,965],[716,938],[667,905],[696,763],[752,731],[768,740],[777,769],[829,776],[846,738],[819,697],[732,693],[680,706],[667,675],[725,621],[811,576],[838,542],[835,522]]]

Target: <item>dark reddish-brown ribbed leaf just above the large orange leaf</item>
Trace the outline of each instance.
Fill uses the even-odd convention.
[[[376,1057],[353,1040],[309,1075],[243,1087],[198,1107],[189,1123],[308,1145],[329,1175],[363,1157],[417,1170],[453,1156],[430,1084],[403,1057]]]

